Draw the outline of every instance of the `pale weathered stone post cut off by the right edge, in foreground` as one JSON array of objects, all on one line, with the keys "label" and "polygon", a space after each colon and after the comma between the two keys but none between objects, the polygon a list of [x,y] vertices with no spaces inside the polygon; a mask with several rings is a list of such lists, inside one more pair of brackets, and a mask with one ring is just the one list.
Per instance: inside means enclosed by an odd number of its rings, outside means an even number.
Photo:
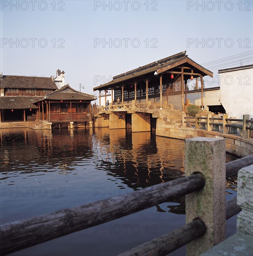
[{"label": "pale weathered stone post cut off by the right edge, in foreground", "polygon": [[238,172],[237,204],[241,212],[237,216],[237,232],[253,236],[253,165]]}]

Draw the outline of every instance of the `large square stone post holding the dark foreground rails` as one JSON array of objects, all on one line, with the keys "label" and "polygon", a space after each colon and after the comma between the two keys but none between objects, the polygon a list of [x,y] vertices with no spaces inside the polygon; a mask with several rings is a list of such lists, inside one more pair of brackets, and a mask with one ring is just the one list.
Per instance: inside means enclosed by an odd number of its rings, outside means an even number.
[{"label": "large square stone post holding the dark foreground rails", "polygon": [[186,195],[186,224],[201,219],[205,235],[186,246],[187,256],[197,256],[225,239],[226,148],[224,139],[197,137],[186,140],[186,176],[201,173],[206,180],[199,192]]}]

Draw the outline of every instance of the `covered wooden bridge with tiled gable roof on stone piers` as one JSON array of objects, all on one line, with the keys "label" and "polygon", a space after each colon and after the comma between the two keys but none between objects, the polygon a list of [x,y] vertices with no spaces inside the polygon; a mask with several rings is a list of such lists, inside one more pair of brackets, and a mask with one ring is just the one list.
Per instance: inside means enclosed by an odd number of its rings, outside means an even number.
[{"label": "covered wooden bridge with tiled gable roof on stone piers", "polygon": [[[200,78],[201,107],[203,108],[203,77],[213,73],[191,60],[186,51],[159,61],[138,67],[113,77],[113,80],[93,88],[105,91],[108,107],[101,106],[95,126],[127,128],[132,131],[148,131],[155,126],[153,118],[159,118],[161,111],[168,111],[172,118],[179,118],[187,106],[187,81]],[[107,98],[111,90],[111,98]],[[108,116],[109,115],[109,116]],[[103,117],[103,119],[99,119]],[[133,125],[133,122],[135,125]]]}]

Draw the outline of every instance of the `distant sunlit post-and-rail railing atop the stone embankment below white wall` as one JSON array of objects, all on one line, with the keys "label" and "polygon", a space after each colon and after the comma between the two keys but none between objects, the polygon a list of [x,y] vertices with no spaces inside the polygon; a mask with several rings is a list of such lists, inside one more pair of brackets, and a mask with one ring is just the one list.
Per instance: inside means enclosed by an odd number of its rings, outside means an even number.
[{"label": "distant sunlit post-and-rail railing atop the stone embankment below white wall", "polygon": [[216,131],[224,134],[239,134],[243,138],[252,137],[253,118],[250,115],[243,115],[243,119],[228,118],[227,114],[213,115],[212,113],[205,116],[196,114],[195,116],[184,115],[183,127],[192,127],[204,129],[207,131]]}]

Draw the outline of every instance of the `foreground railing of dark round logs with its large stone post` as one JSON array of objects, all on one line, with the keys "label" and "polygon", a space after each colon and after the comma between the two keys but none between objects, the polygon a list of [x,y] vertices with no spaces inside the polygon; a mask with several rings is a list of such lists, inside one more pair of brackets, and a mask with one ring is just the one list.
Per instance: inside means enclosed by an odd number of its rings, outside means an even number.
[{"label": "foreground railing of dark round logs with its large stone post", "polygon": [[[195,143],[198,143],[198,147]],[[240,211],[236,198],[226,202],[225,179],[237,175],[238,170],[253,164],[253,155],[227,164],[225,162],[223,139],[188,139],[186,140],[186,177],[134,191],[125,196],[116,196],[1,225],[1,253],[6,255],[187,195],[185,226],[122,255],[146,255],[146,253],[153,256],[166,255],[191,241],[198,241],[193,245],[189,244],[190,250],[196,249],[198,252],[195,255],[198,255],[204,249],[211,248],[217,241],[219,243],[224,239],[226,228],[224,222]],[[220,178],[221,176],[223,179]],[[194,202],[201,202],[201,207],[192,205]],[[206,219],[209,214],[215,216],[210,220]],[[219,222],[216,222],[215,218]],[[207,237],[208,244],[203,244],[202,240],[195,240],[199,236]]]}]

